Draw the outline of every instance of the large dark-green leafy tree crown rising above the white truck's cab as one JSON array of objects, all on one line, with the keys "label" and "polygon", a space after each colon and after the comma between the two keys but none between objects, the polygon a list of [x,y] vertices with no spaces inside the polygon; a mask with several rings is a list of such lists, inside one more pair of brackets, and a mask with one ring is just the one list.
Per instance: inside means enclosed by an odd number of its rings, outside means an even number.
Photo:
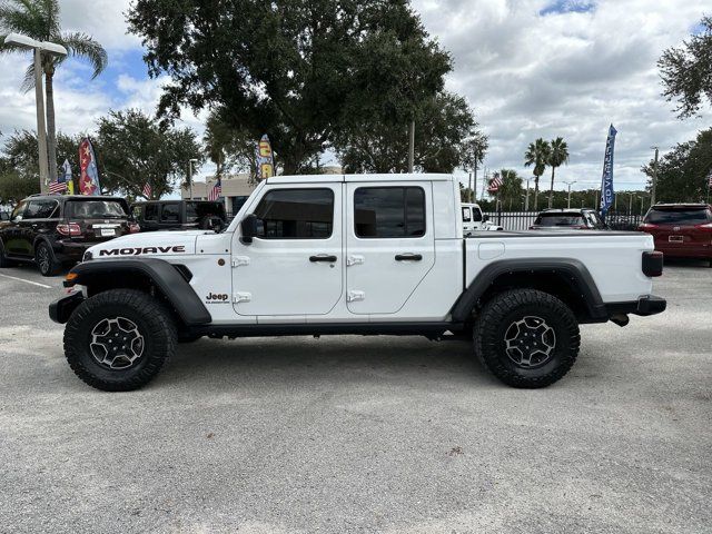
[{"label": "large dark-green leafy tree crown rising above the white truck's cab", "polygon": [[149,73],[172,78],[162,115],[221,107],[235,130],[269,135],[286,174],[368,117],[405,137],[452,65],[406,0],[137,0],[128,21]]}]

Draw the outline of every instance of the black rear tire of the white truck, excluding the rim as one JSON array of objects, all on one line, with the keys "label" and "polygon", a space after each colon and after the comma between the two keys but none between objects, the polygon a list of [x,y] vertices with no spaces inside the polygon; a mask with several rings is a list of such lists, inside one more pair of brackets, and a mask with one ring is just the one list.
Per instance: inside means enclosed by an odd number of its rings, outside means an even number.
[{"label": "black rear tire of the white truck, excluding the rim", "polygon": [[[548,359],[523,367],[507,354],[507,329],[525,317],[545,322],[555,334]],[[478,315],[473,329],[475,354],[483,366],[504,384],[521,388],[546,387],[562,378],[576,362],[581,335],[571,308],[536,289],[512,289],[495,296]],[[541,356],[541,355],[540,355]]]}]

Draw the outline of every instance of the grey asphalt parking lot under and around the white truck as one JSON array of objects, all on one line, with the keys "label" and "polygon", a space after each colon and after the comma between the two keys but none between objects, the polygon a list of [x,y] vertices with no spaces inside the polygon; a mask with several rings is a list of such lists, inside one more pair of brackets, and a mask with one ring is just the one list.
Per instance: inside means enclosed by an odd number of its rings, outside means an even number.
[{"label": "grey asphalt parking lot under and around the white truck", "polygon": [[583,326],[541,390],[464,342],[343,336],[204,339],[102,393],[47,316],[60,281],[0,271],[1,532],[712,531],[705,264],[666,266],[665,314]]}]

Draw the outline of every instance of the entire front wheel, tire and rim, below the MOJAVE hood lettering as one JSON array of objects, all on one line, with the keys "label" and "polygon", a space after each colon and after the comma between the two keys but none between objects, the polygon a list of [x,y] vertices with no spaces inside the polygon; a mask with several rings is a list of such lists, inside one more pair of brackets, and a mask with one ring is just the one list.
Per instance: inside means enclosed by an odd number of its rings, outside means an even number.
[{"label": "entire front wheel, tire and rim, below the MOJAVE hood lettering", "polygon": [[65,355],[97,389],[148,384],[176,349],[176,325],[160,301],[136,289],[110,289],[77,307],[65,328]]}]

